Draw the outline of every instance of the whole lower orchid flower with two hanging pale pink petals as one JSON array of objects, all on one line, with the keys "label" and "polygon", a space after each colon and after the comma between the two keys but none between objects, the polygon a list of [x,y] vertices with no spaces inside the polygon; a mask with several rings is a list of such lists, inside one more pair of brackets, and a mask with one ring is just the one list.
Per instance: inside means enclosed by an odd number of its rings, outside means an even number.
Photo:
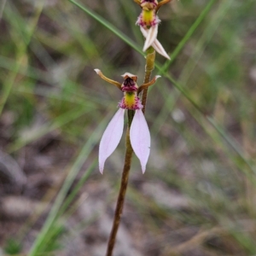
[{"label": "whole lower orchid flower with two hanging pale pink petals", "polygon": [[139,93],[154,84],[160,76],[155,76],[148,84],[137,85],[137,76],[131,73],[122,75],[123,84],[105,77],[99,69],[95,69],[96,73],[105,81],[114,84],[119,90],[124,92],[124,97],[119,102],[119,110],[114,114],[113,119],[109,122],[103,133],[99,148],[99,169],[103,172],[105,161],[108,159],[115,148],[117,148],[124,130],[125,109],[134,110],[134,117],[131,122],[130,140],[131,147],[137,158],[140,160],[143,173],[146,170],[148,156],[150,153],[150,133],[148,125],[143,114],[143,105],[138,97]]}]

